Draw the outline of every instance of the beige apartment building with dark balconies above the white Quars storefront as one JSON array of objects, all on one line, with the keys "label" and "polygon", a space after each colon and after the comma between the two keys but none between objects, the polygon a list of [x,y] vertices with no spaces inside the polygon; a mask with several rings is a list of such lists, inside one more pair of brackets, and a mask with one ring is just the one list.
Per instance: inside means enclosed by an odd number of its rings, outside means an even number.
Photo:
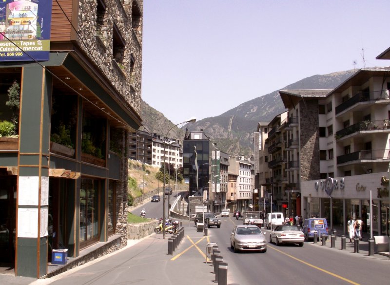
[{"label": "beige apartment building with dark balconies above the white Quars storefront", "polygon": [[279,92],[297,120],[290,137],[299,133],[304,217],[324,216],[346,230],[349,216],[360,216],[363,231],[372,225],[389,234],[389,75],[389,68],[361,69],[330,91]]}]

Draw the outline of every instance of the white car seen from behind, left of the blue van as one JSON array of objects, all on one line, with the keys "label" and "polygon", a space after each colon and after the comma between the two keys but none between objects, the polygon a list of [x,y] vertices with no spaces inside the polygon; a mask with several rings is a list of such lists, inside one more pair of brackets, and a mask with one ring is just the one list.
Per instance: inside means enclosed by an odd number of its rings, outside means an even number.
[{"label": "white car seen from behind, left of the blue van", "polygon": [[305,236],[302,231],[299,230],[297,226],[282,225],[277,226],[270,233],[270,243],[275,242],[278,246],[284,243],[298,244],[300,247],[303,247],[305,241]]}]

